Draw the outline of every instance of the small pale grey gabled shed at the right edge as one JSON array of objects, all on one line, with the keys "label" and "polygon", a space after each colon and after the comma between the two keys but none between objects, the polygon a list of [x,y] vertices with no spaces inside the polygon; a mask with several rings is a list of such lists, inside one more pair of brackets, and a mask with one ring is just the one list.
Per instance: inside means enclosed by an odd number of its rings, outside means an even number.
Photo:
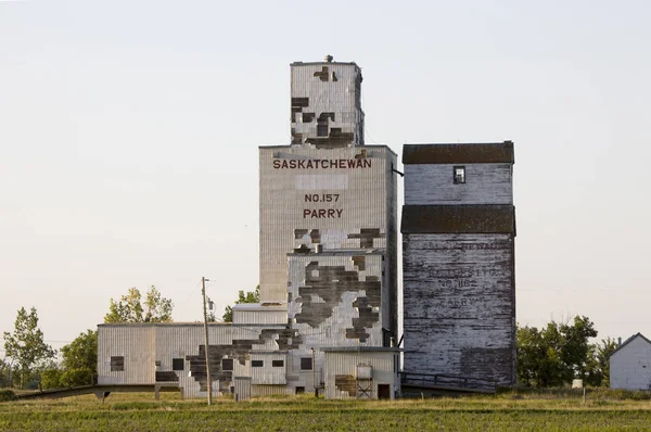
[{"label": "small pale grey gabled shed at the right edge", "polygon": [[636,335],[610,358],[611,389],[649,390],[651,387],[651,343]]}]

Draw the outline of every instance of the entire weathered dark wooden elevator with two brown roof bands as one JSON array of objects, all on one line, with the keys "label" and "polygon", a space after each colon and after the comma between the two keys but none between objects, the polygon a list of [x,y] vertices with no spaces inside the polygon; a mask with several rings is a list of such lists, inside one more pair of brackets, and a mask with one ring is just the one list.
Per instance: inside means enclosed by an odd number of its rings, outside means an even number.
[{"label": "entire weathered dark wooden elevator with two brown roof bands", "polygon": [[515,383],[513,143],[406,144],[405,371]]}]

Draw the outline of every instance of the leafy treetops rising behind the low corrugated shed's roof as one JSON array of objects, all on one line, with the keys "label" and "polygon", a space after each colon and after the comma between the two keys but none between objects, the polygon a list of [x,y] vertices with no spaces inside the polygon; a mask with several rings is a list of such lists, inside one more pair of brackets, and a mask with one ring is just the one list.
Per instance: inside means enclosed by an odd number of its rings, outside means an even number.
[{"label": "leafy treetops rising behind the low corrugated shed's roof", "polygon": [[108,314],[104,316],[104,322],[171,322],[171,300],[165,298],[156,287],[146,292],[144,303],[137,288],[130,288],[127,295],[123,295],[119,302],[111,298]]}]

